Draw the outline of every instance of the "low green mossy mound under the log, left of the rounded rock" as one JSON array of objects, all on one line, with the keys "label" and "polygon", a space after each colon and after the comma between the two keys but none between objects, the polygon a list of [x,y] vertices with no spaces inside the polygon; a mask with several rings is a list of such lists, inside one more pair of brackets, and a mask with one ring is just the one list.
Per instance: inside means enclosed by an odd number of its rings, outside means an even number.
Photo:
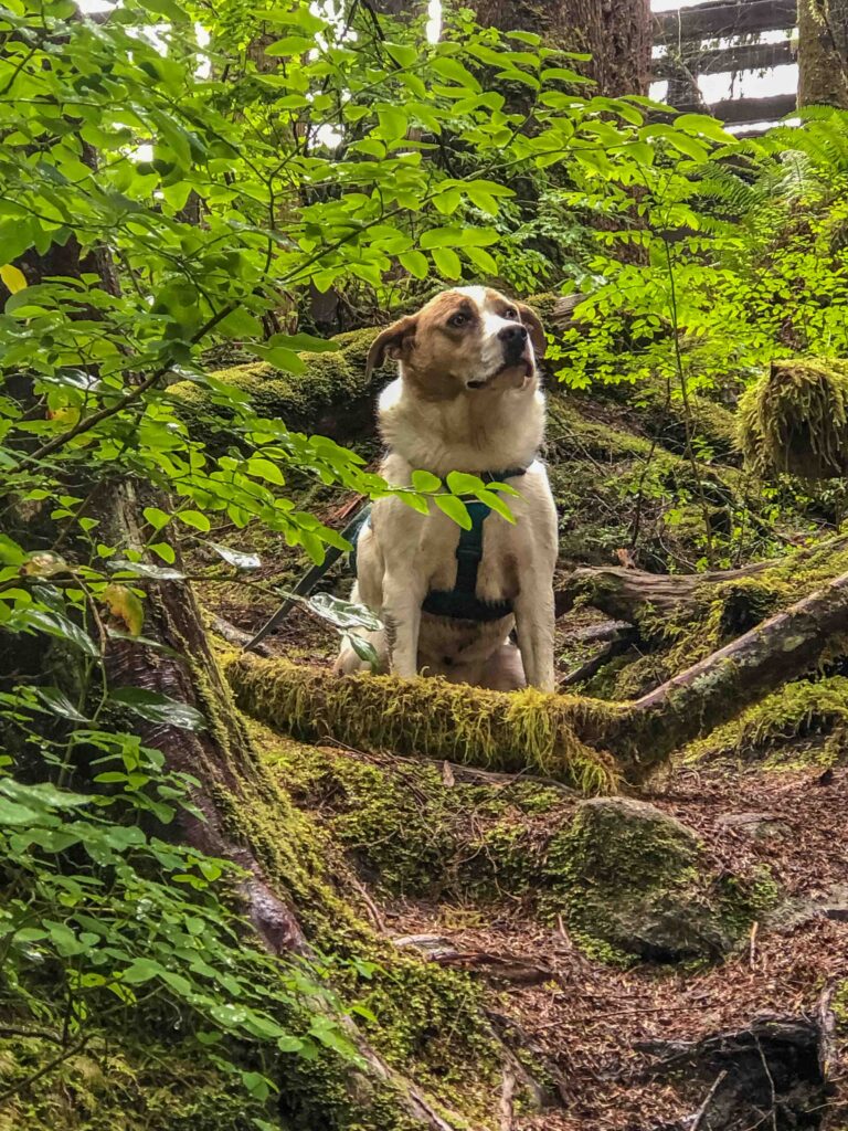
[{"label": "low green mossy mound under the log, left of the rounded rock", "polygon": [[435,762],[274,741],[266,759],[296,804],[320,814],[362,880],[391,896],[520,898],[542,878],[551,828],[574,796],[529,779],[452,780]]}]

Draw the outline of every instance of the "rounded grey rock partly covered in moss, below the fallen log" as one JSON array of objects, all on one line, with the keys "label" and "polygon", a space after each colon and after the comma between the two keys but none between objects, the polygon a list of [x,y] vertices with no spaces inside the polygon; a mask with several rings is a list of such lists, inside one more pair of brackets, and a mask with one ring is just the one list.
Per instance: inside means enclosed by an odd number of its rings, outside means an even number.
[{"label": "rounded grey rock partly covered in moss, below the fallen log", "polygon": [[758,917],[758,900],[773,898],[711,873],[691,829],[626,797],[580,804],[551,841],[547,871],[574,940],[622,964],[724,955]]}]

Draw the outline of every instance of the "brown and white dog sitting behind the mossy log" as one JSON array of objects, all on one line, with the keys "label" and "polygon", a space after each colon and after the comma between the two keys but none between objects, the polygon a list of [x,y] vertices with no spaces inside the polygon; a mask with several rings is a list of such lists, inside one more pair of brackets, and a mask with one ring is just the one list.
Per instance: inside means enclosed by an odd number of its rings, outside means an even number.
[{"label": "brown and white dog sitting behind the mossy log", "polygon": [[[422,515],[397,497],[374,503],[357,545],[352,599],[386,625],[369,636],[384,667],[456,683],[513,690],[554,689],[556,510],[538,459],[545,403],[536,354],[545,334],[523,303],[486,287],[457,287],[379,335],[369,369],[387,356],[399,377],[380,396],[378,418],[388,447],[381,473],[408,486],[423,468],[445,478],[503,472],[519,497],[505,501],[516,519],[496,512],[483,523],[476,597],[494,619],[467,620],[423,610],[427,595],[453,589],[460,528],[431,504]],[[503,610],[503,614],[500,611]],[[518,648],[510,644],[517,630]],[[366,666],[349,647],[340,674]]]}]

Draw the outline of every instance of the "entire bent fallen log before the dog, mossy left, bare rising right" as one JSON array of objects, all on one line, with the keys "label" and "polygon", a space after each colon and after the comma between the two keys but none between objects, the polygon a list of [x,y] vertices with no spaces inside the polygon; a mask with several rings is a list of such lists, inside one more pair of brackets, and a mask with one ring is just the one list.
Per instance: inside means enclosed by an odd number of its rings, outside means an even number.
[{"label": "entire bent fallen log before the dog, mossy left, bare rising right", "polygon": [[311,741],[539,770],[582,794],[642,780],[669,753],[813,668],[848,630],[848,573],[629,702],[484,691],[389,675],[337,679],[285,659],[232,658],[236,702]]}]

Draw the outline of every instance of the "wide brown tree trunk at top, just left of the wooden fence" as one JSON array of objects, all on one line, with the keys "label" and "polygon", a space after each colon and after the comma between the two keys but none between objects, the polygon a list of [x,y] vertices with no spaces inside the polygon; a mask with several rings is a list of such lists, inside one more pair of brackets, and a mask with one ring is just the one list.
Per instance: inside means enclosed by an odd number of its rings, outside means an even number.
[{"label": "wide brown tree trunk at top, just left of the wooden fence", "polygon": [[535,32],[550,46],[591,53],[597,93],[647,94],[654,43],[649,0],[476,0],[484,27]]}]

